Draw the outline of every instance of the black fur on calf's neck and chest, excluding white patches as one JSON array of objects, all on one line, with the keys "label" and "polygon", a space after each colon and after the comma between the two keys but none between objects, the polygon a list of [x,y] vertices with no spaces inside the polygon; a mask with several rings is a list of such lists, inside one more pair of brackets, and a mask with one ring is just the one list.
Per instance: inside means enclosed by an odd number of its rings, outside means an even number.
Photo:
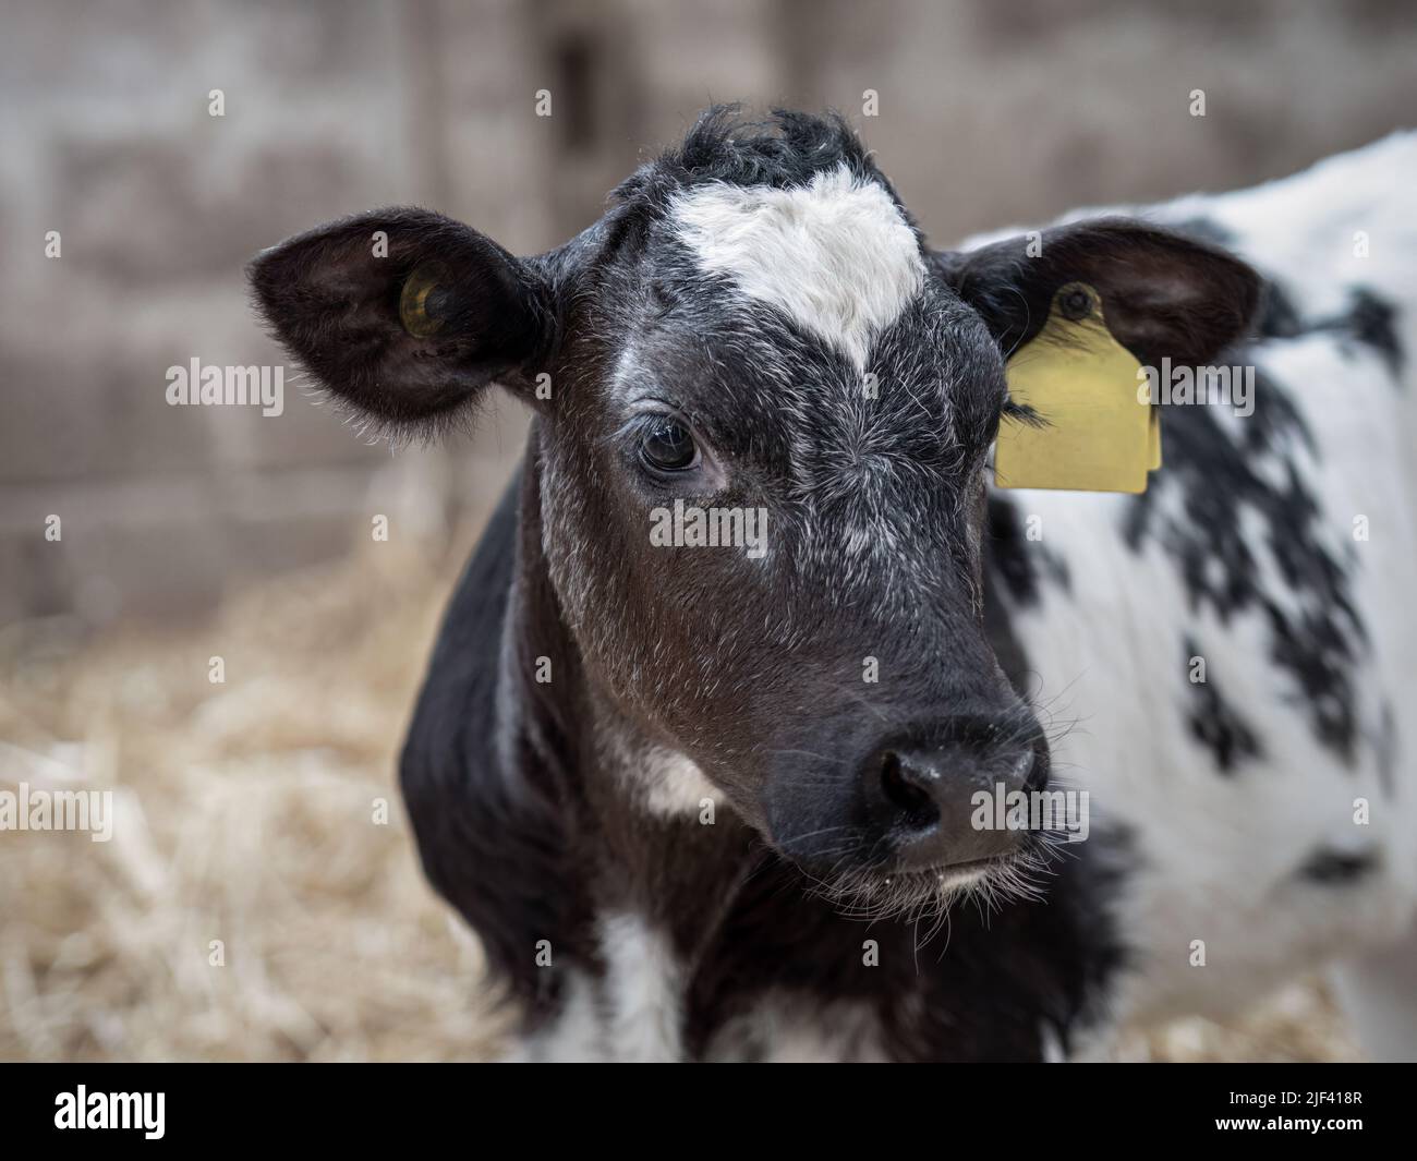
[{"label": "black fur on calf's neck and chest, excluding white patches", "polygon": [[[587,887],[626,875],[646,876],[635,886],[650,892],[646,916],[693,964],[683,1015],[690,1056],[775,994],[809,1006],[860,1002],[903,1060],[1039,1060],[1046,1033],[1067,1049],[1102,1015],[1101,997],[1127,961],[1111,899],[1115,868],[1134,856],[1124,858],[1128,839],[1118,832],[1067,848],[1046,899],[961,906],[934,938],[925,938],[928,920],[845,917],[733,819],[687,831],[633,821],[635,848],[656,856],[643,868],[621,862],[619,828],[632,819],[598,815],[584,792],[594,785],[581,765],[585,746],[558,709],[580,696],[560,682],[555,699],[534,696],[521,662],[509,665],[499,648],[512,617],[512,639],[537,642],[555,665],[574,656],[554,608],[523,598],[538,585],[527,573],[534,537],[516,544],[519,495],[523,527],[537,525],[524,507],[534,507],[533,493],[513,481],[449,605],[404,748],[402,787],[431,880],[478,930],[530,1028],[555,1011],[567,970],[604,971]],[[574,665],[568,679],[578,680],[572,675]],[[497,712],[507,705],[497,686],[507,682],[531,697],[516,726]],[[510,765],[497,758],[500,737],[517,756]],[[686,836],[706,835],[711,853],[684,849]],[[553,950],[550,967],[536,963],[540,940]],[[866,940],[879,944],[876,967],[863,963]],[[751,1038],[738,1046],[750,1058],[769,1048]]]}]

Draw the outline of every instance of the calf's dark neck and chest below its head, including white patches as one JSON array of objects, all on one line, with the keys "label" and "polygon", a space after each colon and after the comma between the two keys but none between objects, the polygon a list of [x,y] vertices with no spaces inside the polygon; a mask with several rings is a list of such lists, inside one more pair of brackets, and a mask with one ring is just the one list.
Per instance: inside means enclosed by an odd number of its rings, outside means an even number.
[{"label": "calf's dark neck and chest below its head, including white patches", "polygon": [[1101,843],[1061,859],[1046,899],[871,923],[693,763],[594,709],[541,560],[540,438],[459,583],[402,758],[429,876],[527,1006],[520,1053],[1041,1059],[1093,1026],[1118,961]]}]

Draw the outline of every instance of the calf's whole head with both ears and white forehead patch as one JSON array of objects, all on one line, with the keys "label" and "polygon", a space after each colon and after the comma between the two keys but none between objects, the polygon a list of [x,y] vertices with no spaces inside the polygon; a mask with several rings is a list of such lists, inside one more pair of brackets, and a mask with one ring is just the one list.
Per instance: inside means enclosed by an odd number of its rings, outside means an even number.
[{"label": "calf's whole head with both ears and white forehead patch", "polygon": [[536,258],[384,210],[252,265],[281,340],[395,435],[492,381],[531,404],[591,705],[798,865],[901,900],[1027,853],[971,826],[975,791],[1049,768],[983,634],[985,461],[1005,356],[1068,282],[1153,363],[1209,359],[1257,295],[1136,221],[932,252],[843,123],[724,111]]}]

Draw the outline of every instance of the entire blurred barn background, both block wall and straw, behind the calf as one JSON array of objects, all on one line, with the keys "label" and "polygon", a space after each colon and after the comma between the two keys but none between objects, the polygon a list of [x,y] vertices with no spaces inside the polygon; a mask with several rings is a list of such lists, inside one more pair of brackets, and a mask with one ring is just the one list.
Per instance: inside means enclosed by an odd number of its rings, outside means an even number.
[{"label": "entire blurred barn background, both block wall and straw, behind the calf", "polygon": [[[169,366],[282,361],[255,251],[410,201],[540,251],[710,101],[843,111],[937,244],[1282,176],[1417,111],[1403,0],[4,0],[0,27],[0,790],[119,809],[109,843],[0,834],[0,1059],[497,1035],[393,763],[526,421],[394,458],[289,383],[278,418],[169,407]],[[1352,1055],[1316,987],[1131,1050]]]}]

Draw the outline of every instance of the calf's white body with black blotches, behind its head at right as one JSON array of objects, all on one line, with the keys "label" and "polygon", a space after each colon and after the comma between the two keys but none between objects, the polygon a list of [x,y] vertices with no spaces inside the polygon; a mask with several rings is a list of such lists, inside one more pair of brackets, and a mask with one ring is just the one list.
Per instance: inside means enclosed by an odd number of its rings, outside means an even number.
[{"label": "calf's white body with black blotches, behind its head at right", "polygon": [[1253,414],[1163,408],[1139,498],[1007,493],[1051,563],[1009,605],[1033,693],[1078,723],[1054,753],[1136,852],[1118,1018],[1223,1015],[1346,958],[1365,1048],[1417,1055],[1417,957],[1382,950],[1417,899],[1414,180],[1403,135],[1146,211],[1265,275],[1219,360],[1255,369]]}]

